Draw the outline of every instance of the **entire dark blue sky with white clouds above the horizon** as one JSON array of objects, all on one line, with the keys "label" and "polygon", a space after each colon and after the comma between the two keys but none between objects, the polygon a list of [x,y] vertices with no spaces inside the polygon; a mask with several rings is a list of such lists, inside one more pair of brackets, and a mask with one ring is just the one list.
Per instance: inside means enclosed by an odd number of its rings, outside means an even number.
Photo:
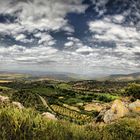
[{"label": "entire dark blue sky with white clouds above the horizon", "polygon": [[0,71],[140,71],[139,0],[0,0]]}]

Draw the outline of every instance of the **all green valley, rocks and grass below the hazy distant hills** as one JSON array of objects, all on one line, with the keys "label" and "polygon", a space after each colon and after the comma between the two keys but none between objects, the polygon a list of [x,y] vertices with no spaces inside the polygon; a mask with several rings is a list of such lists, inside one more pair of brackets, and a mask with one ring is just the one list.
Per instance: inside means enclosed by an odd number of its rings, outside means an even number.
[{"label": "all green valley, rocks and grass below the hazy distant hills", "polygon": [[0,139],[139,140],[139,84],[54,80],[1,83]]}]

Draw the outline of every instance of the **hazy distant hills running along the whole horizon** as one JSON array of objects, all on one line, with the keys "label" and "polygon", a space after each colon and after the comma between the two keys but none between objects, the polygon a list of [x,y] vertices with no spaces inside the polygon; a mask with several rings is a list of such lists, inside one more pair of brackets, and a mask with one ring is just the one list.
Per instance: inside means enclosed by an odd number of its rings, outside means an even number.
[{"label": "hazy distant hills running along the whole horizon", "polygon": [[56,79],[63,81],[77,81],[77,80],[98,80],[98,81],[133,81],[140,80],[140,72],[131,74],[113,74],[100,78],[89,78],[86,75],[74,74],[74,73],[63,73],[63,72],[5,72],[0,71],[0,79],[20,79],[25,78],[29,80],[45,80],[45,79]]}]

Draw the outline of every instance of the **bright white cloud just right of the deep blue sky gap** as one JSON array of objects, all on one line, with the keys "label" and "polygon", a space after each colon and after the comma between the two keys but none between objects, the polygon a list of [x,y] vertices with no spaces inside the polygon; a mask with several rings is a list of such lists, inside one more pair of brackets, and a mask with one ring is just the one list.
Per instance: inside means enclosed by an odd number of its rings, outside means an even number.
[{"label": "bright white cloud just right of the deep blue sky gap", "polygon": [[126,27],[106,20],[91,21],[89,29],[96,33],[93,38],[100,41],[135,43],[140,39],[140,32],[135,27]]}]

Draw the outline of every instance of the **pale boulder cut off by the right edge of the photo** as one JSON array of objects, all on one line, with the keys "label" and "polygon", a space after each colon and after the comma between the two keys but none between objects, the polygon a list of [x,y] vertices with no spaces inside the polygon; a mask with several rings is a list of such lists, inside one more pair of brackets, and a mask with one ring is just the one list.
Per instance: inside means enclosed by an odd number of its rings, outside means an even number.
[{"label": "pale boulder cut off by the right edge of the photo", "polygon": [[140,113],[140,100],[136,100],[135,102],[129,104],[128,108],[132,112]]}]

